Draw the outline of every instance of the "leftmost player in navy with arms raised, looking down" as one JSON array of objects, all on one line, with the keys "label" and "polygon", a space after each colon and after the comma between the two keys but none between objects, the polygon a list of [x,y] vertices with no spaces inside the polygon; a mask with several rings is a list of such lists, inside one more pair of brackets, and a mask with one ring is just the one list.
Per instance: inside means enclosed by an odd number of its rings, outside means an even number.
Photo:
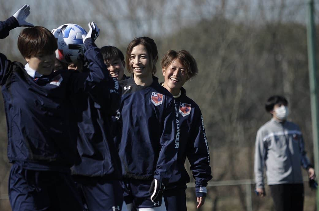
[{"label": "leftmost player in navy with arms raised, looking down", "polygon": [[[29,5],[0,22],[0,39],[26,22]],[[70,167],[79,161],[69,111],[70,97],[91,93],[98,101],[105,93],[109,77],[100,51],[94,44],[94,28],[81,36],[87,74],[54,70],[57,43],[52,33],[41,26],[25,28],[19,34],[18,48],[27,64],[11,62],[0,53],[0,85],[8,128],[9,200],[13,211],[83,210],[81,198],[71,178]]]}]

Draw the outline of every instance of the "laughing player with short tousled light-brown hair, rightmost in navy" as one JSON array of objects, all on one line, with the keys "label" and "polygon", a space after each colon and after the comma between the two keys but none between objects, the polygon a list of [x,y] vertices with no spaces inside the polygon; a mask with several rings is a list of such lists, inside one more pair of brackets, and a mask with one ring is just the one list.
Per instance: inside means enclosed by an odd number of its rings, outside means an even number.
[{"label": "laughing player with short tousled light-brown hair, rightmost in navy", "polygon": [[167,211],[186,211],[186,183],[189,175],[185,169],[186,157],[195,179],[197,208],[205,202],[207,182],[212,178],[209,165],[209,148],[204,127],[204,119],[198,105],[186,95],[182,87],[186,81],[194,77],[197,63],[186,50],[169,50],[161,60],[164,83],[175,99],[179,120],[179,152],[177,164],[172,177],[164,190]]}]

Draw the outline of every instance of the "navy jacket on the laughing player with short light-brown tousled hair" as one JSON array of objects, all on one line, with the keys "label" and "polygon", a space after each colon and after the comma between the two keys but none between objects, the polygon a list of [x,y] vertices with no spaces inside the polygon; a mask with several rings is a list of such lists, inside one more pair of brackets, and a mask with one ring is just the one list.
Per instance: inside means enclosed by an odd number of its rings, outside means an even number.
[{"label": "navy jacket on the laughing player with short light-brown tousled hair", "polygon": [[[212,178],[209,165],[209,148],[204,128],[202,112],[198,105],[186,96],[186,90],[181,88],[181,96],[175,98],[180,124],[180,144],[177,164],[166,189],[182,188],[189,182],[185,169],[186,157],[195,179],[197,197],[205,196],[207,182]],[[204,189],[204,190],[203,190]]]}]

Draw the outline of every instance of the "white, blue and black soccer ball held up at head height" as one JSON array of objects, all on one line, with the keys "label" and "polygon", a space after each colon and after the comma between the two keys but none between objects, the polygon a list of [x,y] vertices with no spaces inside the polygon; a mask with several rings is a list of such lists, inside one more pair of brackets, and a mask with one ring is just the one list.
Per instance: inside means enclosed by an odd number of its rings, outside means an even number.
[{"label": "white, blue and black soccer ball held up at head height", "polygon": [[75,63],[83,57],[85,46],[82,35],[87,33],[81,26],[63,24],[57,29],[53,29],[51,33],[57,40],[56,58],[58,60],[64,63]]}]

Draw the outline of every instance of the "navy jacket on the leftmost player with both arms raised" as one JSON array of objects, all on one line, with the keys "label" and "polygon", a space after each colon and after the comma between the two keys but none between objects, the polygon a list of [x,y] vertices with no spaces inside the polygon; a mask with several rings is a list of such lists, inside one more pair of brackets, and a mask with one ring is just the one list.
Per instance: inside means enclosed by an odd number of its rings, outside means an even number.
[{"label": "navy jacket on the leftmost player with both arms raised", "polygon": [[[11,17],[0,22],[0,38],[18,27]],[[34,80],[19,62],[11,62],[0,53],[0,85],[8,128],[8,158],[26,169],[70,171],[79,162],[76,128],[72,125],[70,96],[92,94],[103,103],[109,93],[100,91],[108,82],[108,72],[100,50],[91,39],[85,40],[88,73],[58,70]],[[105,95],[104,95],[105,94]]]}]

